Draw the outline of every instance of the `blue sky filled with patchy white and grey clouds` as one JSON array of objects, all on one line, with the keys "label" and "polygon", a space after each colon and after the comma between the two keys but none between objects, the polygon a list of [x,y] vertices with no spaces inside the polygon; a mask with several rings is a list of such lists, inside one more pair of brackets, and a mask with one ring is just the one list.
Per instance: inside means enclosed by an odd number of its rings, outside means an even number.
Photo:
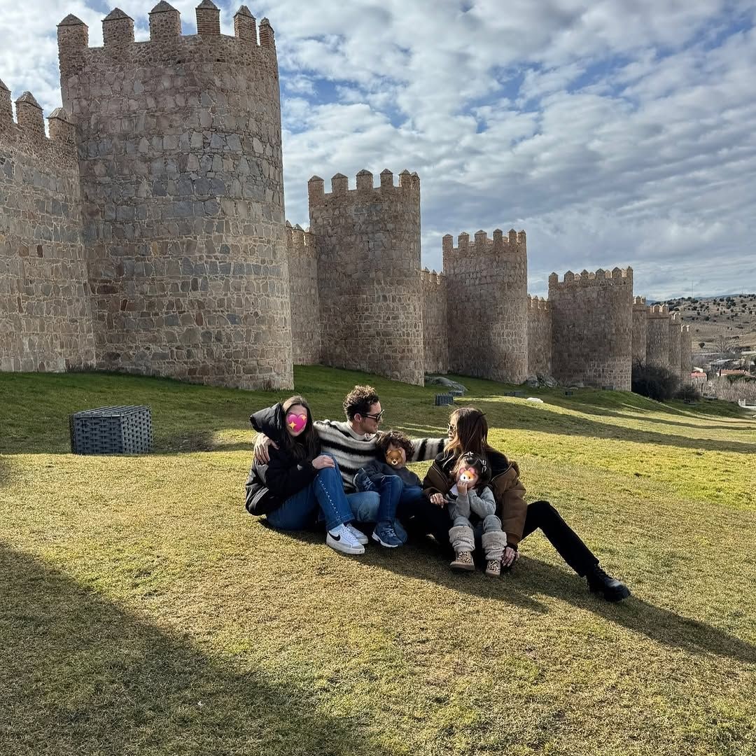
[{"label": "blue sky filled with patchy white and grey clouds", "polygon": [[[119,0],[121,2],[121,0]],[[122,0],[147,38],[156,0]],[[173,2],[184,33],[199,0]],[[216,0],[218,2],[218,0]],[[232,33],[236,4],[218,2]],[[101,44],[112,5],[0,0],[0,78],[60,105],[55,24]],[[441,237],[528,234],[551,271],[631,265],[652,299],[756,291],[756,0],[276,0],[287,217],[306,182],[421,180],[423,265]],[[377,178],[377,176],[376,176]],[[328,181],[327,181],[328,187]]]}]

